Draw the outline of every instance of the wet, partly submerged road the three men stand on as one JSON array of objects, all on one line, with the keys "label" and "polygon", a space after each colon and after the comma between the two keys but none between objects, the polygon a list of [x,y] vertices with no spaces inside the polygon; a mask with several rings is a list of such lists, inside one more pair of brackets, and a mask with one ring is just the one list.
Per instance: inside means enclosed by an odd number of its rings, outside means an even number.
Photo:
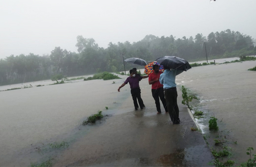
[{"label": "wet, partly submerged road the three men stand on", "polygon": [[191,131],[196,125],[187,107],[181,104],[180,90],[181,124],[172,125],[168,113],[157,114],[147,80],[140,85],[145,109],[134,111],[126,85],[117,98],[129,98],[115,109],[115,114],[101,125],[92,126],[86,136],[64,151],[54,166],[209,166],[213,156],[201,133]]}]

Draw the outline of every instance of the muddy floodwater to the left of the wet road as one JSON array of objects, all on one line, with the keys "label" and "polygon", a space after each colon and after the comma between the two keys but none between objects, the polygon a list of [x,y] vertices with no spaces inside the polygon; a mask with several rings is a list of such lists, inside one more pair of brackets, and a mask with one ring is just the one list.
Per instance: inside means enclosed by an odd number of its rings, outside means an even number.
[{"label": "muddy floodwater to the left of the wet road", "polygon": [[[113,81],[116,84],[112,84]],[[34,151],[40,144],[65,140],[64,135],[91,114],[106,111],[106,106],[117,108],[124,100],[116,98],[117,88],[123,82],[124,79],[93,80],[46,85],[53,82],[42,81],[23,84],[32,84],[32,88],[1,91],[0,166],[28,166],[36,158],[24,155],[27,152]],[[38,84],[45,86],[34,87]],[[0,86],[0,90],[17,85]]]}]

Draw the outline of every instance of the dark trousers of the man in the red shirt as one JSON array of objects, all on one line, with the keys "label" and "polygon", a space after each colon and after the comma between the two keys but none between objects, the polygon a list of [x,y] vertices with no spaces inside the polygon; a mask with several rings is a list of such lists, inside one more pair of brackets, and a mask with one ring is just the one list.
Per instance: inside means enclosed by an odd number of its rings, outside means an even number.
[{"label": "dark trousers of the man in the red shirt", "polygon": [[[152,96],[155,99],[157,111],[161,112],[161,108],[160,108],[160,100],[161,100],[162,101],[162,105],[163,105],[163,107],[165,109],[165,112],[168,112],[166,101],[165,101],[165,98],[164,98],[163,88],[160,87],[158,89],[151,89],[151,91],[152,91]],[[159,100],[159,98],[160,98],[160,100]]]}]

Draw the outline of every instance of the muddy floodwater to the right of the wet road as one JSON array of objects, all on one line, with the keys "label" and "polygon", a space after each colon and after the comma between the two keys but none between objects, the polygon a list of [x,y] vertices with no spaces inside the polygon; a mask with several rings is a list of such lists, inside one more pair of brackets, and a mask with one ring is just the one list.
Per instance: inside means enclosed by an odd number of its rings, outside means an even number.
[{"label": "muddy floodwater to the right of the wet road", "polygon": [[[225,59],[230,60],[233,59]],[[219,139],[232,148],[232,159],[238,164],[249,159],[248,147],[256,148],[256,72],[248,71],[255,66],[256,61],[207,65],[194,67],[177,77],[179,85],[199,96],[205,114],[218,118],[220,133],[224,133]],[[203,133],[211,134],[208,124],[205,125]]]}]

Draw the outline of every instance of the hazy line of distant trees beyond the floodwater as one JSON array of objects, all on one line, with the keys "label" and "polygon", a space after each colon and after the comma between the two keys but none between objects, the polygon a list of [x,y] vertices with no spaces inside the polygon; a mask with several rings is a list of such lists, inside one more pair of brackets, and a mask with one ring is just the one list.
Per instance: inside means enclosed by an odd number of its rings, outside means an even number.
[{"label": "hazy line of distant trees beyond the floodwater", "polygon": [[[211,32],[207,37],[198,33],[193,38],[175,39],[173,35],[146,35],[133,42],[110,42],[100,48],[93,38],[77,36],[77,51],[55,47],[50,55],[19,55],[0,59],[0,85],[50,79],[53,75],[66,77],[94,74],[103,71],[124,71],[123,56],[153,61],[161,56],[178,56],[188,61],[256,55],[253,38],[239,31],[226,29]],[[126,70],[131,68],[126,63]]]}]

